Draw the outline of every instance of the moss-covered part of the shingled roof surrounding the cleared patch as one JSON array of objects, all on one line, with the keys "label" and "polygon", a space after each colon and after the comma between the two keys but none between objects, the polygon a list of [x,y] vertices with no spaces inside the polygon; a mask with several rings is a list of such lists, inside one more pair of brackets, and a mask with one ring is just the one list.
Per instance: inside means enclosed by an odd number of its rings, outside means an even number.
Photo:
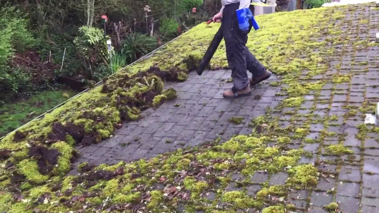
[{"label": "moss-covered part of the shingled roof surrounding the cleared patch", "polygon": [[[81,164],[81,174],[66,176],[77,157],[75,145],[108,138],[123,121],[139,119],[141,110],[175,98],[173,89],[163,89],[163,80],[184,81],[218,29],[218,24],[197,25],[151,58],[2,139],[0,209],[284,213],[311,207],[309,197],[303,197],[305,206],[292,205],[290,194],[312,192],[323,178],[338,178],[343,165],[362,165],[366,139],[379,134],[378,127],[363,124],[364,113],[374,111],[370,100],[378,98],[366,90],[375,91],[377,84],[354,81],[377,75],[378,45],[371,35],[379,11],[372,5],[256,17],[261,29],[251,33],[247,46],[280,76],[271,86],[280,88],[276,96],[282,102],[252,121],[251,135],[149,160]],[[211,68],[227,67],[224,49],[222,42]],[[353,91],[362,96],[354,97]],[[281,125],[283,120],[290,124]],[[333,127],[345,124],[356,130],[355,144],[347,143],[349,133],[334,132]],[[304,149],[308,144],[319,146],[309,152]],[[323,164],[337,169],[328,171]],[[268,177],[278,173],[287,174],[285,183],[270,185]],[[259,190],[252,193],[251,187]]]}]

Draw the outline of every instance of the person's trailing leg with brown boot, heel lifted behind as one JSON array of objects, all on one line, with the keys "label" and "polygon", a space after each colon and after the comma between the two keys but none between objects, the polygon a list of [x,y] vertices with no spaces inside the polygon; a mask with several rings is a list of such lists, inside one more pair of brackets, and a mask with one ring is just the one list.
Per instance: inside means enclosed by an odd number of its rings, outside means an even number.
[{"label": "person's trailing leg with brown boot, heel lifted behind", "polygon": [[266,70],[266,67],[259,63],[259,61],[254,57],[254,55],[249,51],[247,47],[245,49],[245,55],[246,68],[253,75],[253,77],[249,80],[252,86],[256,85],[257,83],[263,80],[268,79],[271,76],[271,72]]}]

